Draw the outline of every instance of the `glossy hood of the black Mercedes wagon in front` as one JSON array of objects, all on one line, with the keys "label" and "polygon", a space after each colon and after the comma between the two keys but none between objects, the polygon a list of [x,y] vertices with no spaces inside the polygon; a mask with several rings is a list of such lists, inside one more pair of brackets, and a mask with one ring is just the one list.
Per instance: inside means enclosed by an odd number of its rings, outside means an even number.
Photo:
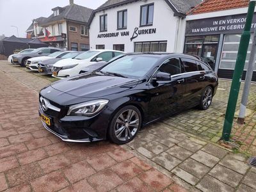
[{"label": "glossy hood of the black Mercedes wagon in front", "polygon": [[134,88],[138,79],[129,79],[116,76],[102,76],[96,73],[70,77],[52,83],[55,90],[65,92],[76,97],[99,98]]}]

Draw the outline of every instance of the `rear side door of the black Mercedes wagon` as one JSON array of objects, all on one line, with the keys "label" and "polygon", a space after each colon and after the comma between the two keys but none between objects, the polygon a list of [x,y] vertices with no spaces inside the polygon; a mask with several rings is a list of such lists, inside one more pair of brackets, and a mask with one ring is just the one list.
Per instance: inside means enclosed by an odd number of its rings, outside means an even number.
[{"label": "rear side door of the black Mercedes wagon", "polygon": [[202,89],[205,84],[204,71],[198,70],[196,60],[190,58],[181,58],[184,65],[184,78],[186,79],[186,96],[184,98],[184,106],[192,108],[199,104]]}]

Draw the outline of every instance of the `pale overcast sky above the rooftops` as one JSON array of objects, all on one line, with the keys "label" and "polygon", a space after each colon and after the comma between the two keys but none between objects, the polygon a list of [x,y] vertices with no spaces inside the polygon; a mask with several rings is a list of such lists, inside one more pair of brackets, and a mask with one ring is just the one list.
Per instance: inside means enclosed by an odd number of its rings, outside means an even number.
[{"label": "pale overcast sky above the rooftops", "polygon": [[[106,0],[74,0],[74,3],[95,9]],[[26,29],[33,19],[49,17],[52,8],[66,6],[69,0],[0,0],[0,35],[17,36],[17,30],[11,26],[17,26],[19,36],[26,37]]]}]

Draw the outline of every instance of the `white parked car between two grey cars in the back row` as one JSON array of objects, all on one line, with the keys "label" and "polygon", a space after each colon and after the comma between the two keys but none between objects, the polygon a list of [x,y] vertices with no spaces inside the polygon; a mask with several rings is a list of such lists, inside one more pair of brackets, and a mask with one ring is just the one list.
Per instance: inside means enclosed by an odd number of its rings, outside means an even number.
[{"label": "white parked car between two grey cars in the back row", "polygon": [[53,52],[52,54],[49,54],[49,56],[40,56],[40,57],[30,58],[26,61],[25,65],[30,70],[38,71],[39,62],[50,60],[52,58],[60,58],[61,56],[64,56],[69,52],[72,52],[72,51],[57,51],[57,52]]}]

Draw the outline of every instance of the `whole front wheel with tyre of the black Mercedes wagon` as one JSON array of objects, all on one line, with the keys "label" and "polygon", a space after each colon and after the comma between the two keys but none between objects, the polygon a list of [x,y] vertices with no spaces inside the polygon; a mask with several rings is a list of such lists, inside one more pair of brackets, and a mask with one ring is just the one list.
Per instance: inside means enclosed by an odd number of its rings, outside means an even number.
[{"label": "whole front wheel with tyre of the black Mercedes wagon", "polygon": [[111,120],[108,129],[109,139],[118,145],[129,143],[140,130],[141,123],[140,110],[134,106],[125,106],[117,111]]}]

